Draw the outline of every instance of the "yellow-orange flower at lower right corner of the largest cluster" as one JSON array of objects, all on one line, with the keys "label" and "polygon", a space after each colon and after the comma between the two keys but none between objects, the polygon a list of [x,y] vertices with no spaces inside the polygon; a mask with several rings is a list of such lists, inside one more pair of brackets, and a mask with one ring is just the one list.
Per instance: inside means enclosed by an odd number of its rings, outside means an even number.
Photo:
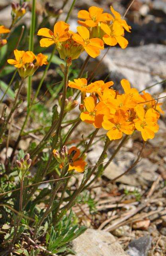
[{"label": "yellow-orange flower at lower right corner of the largest cluster", "polygon": [[158,132],[159,126],[156,123],[154,109],[149,108],[146,113],[143,106],[138,105],[136,108],[138,118],[134,119],[135,128],[141,132],[143,139],[153,139],[154,134]]}]

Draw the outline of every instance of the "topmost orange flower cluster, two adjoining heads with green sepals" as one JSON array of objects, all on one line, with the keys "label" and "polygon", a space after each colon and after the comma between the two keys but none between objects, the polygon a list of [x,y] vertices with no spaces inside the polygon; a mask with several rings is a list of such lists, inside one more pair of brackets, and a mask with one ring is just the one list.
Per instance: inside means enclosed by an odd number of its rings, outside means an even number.
[{"label": "topmost orange flower cluster, two adjoining heads with green sepals", "polygon": [[54,31],[41,28],[38,36],[44,36],[40,40],[41,47],[56,45],[60,58],[71,60],[77,59],[81,52],[86,51],[89,56],[96,58],[104,44],[115,46],[117,43],[121,48],[126,48],[128,41],[123,37],[124,29],[130,32],[131,27],[121,19],[121,15],[111,6],[111,12],[103,13],[102,8],[91,6],[89,12],[80,10],[78,12],[77,33],[69,30],[69,24],[59,21],[54,26]]}]

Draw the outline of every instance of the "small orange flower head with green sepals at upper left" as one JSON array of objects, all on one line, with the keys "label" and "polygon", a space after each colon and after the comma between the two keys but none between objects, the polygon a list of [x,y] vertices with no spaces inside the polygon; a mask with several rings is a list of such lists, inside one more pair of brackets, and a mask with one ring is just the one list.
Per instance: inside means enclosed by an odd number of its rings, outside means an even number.
[{"label": "small orange flower head with green sepals at upper left", "polygon": [[[32,76],[34,72],[39,68],[39,66],[43,66],[44,64],[48,64],[47,56],[39,53],[37,56],[31,51],[19,51],[14,50],[14,59],[8,59],[8,63],[14,65],[18,68],[18,73],[22,78],[27,76]],[[33,61],[35,60],[35,63]]]}]

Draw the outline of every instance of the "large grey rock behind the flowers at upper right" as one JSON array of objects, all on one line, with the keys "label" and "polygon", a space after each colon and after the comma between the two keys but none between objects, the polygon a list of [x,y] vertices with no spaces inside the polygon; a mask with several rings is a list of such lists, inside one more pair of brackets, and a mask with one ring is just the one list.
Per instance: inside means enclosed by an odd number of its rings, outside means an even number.
[{"label": "large grey rock behind the flowers at upper right", "polygon": [[[98,59],[102,58],[106,50],[101,52]],[[143,90],[166,78],[165,55],[166,47],[160,44],[128,47],[125,50],[111,47],[96,72],[96,79],[105,78],[110,74],[109,79],[114,81],[115,87],[120,84],[122,78],[126,78],[132,86]],[[96,66],[96,61],[91,63],[92,70]],[[162,85],[158,84],[148,91],[154,94],[161,92],[161,88]]]}]

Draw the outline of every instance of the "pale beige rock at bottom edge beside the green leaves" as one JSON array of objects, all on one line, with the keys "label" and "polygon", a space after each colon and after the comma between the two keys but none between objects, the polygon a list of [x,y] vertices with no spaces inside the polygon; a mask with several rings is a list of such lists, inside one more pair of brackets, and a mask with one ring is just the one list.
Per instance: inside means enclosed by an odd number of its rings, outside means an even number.
[{"label": "pale beige rock at bottom edge beside the green leaves", "polygon": [[72,243],[76,256],[127,256],[114,236],[102,230],[88,228]]}]

